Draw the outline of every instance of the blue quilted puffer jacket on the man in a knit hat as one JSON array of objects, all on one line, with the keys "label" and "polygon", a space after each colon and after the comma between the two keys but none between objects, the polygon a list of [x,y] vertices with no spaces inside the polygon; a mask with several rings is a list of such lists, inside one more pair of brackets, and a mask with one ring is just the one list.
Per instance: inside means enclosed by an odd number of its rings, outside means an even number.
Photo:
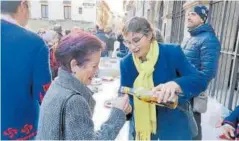
[{"label": "blue quilted puffer jacket on the man in a knit hat", "polygon": [[204,73],[210,81],[217,72],[220,42],[209,24],[189,30],[189,33],[191,37],[182,43],[184,53],[189,62]]}]

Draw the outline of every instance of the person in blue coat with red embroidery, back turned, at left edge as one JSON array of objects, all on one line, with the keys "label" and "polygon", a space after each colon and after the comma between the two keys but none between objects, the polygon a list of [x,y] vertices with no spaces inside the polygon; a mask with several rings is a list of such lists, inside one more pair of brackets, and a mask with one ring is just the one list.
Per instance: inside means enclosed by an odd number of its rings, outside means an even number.
[{"label": "person in blue coat with red embroidery, back turned, at left edge", "polygon": [[51,82],[49,49],[24,28],[26,0],[1,1],[1,140],[33,140],[39,107]]}]

